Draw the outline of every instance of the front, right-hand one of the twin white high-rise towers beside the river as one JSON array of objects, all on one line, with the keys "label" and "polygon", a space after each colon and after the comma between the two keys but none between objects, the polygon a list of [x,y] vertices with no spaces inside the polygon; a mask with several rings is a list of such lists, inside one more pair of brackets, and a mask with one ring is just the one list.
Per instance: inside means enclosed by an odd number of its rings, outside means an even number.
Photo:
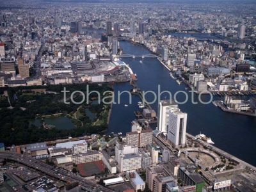
[{"label": "front, right-hand one of the twin white high-rise towers beside the river", "polygon": [[180,109],[170,110],[168,140],[173,147],[184,147],[186,143],[187,113],[182,113]]}]

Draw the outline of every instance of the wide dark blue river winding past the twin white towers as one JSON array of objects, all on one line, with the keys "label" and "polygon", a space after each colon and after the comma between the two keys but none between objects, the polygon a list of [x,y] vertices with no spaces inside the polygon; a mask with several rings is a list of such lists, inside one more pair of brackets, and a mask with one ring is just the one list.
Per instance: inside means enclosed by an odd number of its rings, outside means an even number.
[{"label": "wide dark blue river winding past the twin white towers", "polygon": [[[141,46],[134,45],[130,42],[120,42],[120,47],[124,54],[143,55],[149,51]],[[138,76],[138,87],[141,90],[152,90],[157,93],[158,85],[161,86],[161,92],[168,90],[174,95],[175,92],[184,91],[189,95],[189,101],[186,104],[180,104],[179,108],[188,113],[187,131],[189,134],[204,133],[212,138],[216,147],[227,151],[228,153],[243,159],[244,161],[256,166],[256,118],[251,116],[236,115],[221,111],[213,104],[193,104],[191,102],[191,93],[186,90],[184,84],[177,84],[173,80],[168,70],[161,65],[156,58],[123,58],[123,61],[132,68]],[[118,91],[129,91],[129,83],[115,84],[115,95]],[[185,98],[183,93],[177,95],[177,99],[182,102]],[[195,101],[198,100],[196,95]],[[161,99],[169,98],[168,94],[161,95]],[[148,94],[148,100],[152,95]],[[207,101],[209,95],[204,95],[202,100]],[[215,97],[214,99],[220,99]],[[113,104],[108,132],[125,132],[131,131],[131,121],[135,119],[134,111],[138,111],[138,96],[132,96],[132,104],[129,103],[127,94],[121,97],[121,104]],[[124,104],[128,104],[127,107]],[[157,112],[157,102],[152,104],[152,108]]]}]

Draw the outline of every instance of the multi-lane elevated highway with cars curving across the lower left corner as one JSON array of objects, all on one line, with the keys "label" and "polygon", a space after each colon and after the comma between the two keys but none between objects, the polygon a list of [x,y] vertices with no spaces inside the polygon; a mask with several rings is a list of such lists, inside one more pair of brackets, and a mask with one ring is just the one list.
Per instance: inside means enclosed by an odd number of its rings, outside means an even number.
[{"label": "multi-lane elevated highway with cars curving across the lower left corner", "polygon": [[73,173],[70,173],[66,170],[62,170],[60,168],[54,168],[53,166],[50,166],[49,164],[45,164],[42,161],[36,160],[33,157],[29,157],[22,154],[10,153],[10,152],[0,152],[0,158],[12,160],[17,163],[24,164],[30,168],[33,168],[42,173],[45,173],[50,177],[54,177],[55,179],[58,179],[58,180],[63,180],[64,182],[78,181],[81,187],[86,191],[92,191],[92,192],[112,191],[111,189],[104,188],[103,186],[100,186],[99,184],[95,184],[90,180],[86,180],[79,175],[74,175]]}]

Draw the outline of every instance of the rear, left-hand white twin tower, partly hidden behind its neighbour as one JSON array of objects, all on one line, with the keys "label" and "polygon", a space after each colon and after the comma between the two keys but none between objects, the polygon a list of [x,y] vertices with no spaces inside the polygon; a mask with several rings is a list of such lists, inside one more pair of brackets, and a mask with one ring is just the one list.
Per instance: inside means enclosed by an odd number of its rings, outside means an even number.
[{"label": "rear, left-hand white twin tower, partly hidden behind its neighbour", "polygon": [[161,100],[158,104],[157,129],[160,132],[168,132],[169,111],[178,109],[178,104],[170,100]]}]

